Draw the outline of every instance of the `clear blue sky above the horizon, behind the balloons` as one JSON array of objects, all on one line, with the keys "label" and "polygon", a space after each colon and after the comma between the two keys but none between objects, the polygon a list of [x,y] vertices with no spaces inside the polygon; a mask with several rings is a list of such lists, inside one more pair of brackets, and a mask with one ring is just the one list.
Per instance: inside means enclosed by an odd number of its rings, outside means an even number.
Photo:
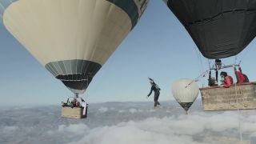
[{"label": "clear blue sky above the horizon, behind the balloons", "polygon": [[[256,79],[255,40],[238,54],[250,81]],[[235,58],[222,62],[234,63]],[[0,26],[0,105],[58,104],[73,94],[39,64]],[[162,1],[150,1],[138,25],[130,32],[90,83],[83,98],[90,102],[152,101],[148,77],[161,87],[160,102],[174,99],[171,84],[178,78],[196,78],[208,68],[178,19]],[[226,70],[231,76],[231,70]],[[206,78],[205,78],[206,80]],[[203,79],[199,86],[206,84]]]}]

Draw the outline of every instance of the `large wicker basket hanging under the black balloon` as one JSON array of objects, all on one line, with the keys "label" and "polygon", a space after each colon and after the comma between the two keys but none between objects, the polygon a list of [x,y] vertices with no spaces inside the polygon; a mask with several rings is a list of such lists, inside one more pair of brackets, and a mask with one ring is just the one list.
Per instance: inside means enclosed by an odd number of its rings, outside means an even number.
[{"label": "large wicker basket hanging under the black balloon", "polygon": [[204,110],[256,109],[256,83],[201,88]]}]

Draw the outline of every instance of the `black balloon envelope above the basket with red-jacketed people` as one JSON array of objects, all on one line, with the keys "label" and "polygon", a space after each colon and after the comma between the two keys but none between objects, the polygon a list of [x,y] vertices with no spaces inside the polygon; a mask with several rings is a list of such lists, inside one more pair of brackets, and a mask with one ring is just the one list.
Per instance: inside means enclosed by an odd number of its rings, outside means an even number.
[{"label": "black balloon envelope above the basket with red-jacketed people", "polygon": [[240,53],[256,35],[256,0],[169,0],[202,55],[226,58]]}]

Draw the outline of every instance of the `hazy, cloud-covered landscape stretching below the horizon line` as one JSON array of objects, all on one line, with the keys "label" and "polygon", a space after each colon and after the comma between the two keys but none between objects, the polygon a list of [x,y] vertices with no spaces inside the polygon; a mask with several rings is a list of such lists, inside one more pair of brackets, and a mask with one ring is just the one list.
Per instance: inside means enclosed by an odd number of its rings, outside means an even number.
[{"label": "hazy, cloud-covered landscape stretching below the horizon line", "polygon": [[0,143],[256,144],[256,110],[205,112],[201,103],[188,115],[173,101],[90,104],[86,119],[61,118],[60,106],[2,107]]}]

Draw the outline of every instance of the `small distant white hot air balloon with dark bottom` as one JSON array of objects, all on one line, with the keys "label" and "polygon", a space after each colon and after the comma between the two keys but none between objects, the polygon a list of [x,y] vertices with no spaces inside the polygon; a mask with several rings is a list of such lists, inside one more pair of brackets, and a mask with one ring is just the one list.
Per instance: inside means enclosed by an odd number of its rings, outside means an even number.
[{"label": "small distant white hot air balloon with dark bottom", "polygon": [[198,97],[199,87],[196,82],[191,79],[179,79],[174,82],[171,88],[172,94],[176,101],[187,111]]}]

